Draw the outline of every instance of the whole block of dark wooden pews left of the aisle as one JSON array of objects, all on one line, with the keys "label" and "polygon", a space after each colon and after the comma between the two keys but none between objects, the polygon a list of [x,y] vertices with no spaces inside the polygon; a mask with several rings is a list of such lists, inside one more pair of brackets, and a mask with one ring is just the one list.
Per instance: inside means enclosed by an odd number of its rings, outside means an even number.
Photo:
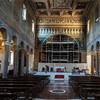
[{"label": "whole block of dark wooden pews left of the aisle", "polygon": [[0,78],[0,100],[17,100],[20,97],[32,100],[49,82],[49,76],[43,75]]}]

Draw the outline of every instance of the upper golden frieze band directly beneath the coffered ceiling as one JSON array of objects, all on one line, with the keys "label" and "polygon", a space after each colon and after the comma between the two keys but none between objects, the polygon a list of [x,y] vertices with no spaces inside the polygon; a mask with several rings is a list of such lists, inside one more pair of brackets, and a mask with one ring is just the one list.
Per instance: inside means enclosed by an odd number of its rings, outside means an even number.
[{"label": "upper golden frieze band directly beneath the coffered ceiling", "polygon": [[82,18],[72,17],[72,18],[66,18],[66,17],[52,17],[52,18],[38,18],[37,19],[38,25],[86,25],[85,20],[82,20]]}]

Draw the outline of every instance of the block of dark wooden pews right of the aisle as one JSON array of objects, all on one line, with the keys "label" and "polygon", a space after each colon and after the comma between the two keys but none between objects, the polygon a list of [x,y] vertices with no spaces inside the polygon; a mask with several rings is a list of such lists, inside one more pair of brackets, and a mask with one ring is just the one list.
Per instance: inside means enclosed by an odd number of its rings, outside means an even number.
[{"label": "block of dark wooden pews right of the aisle", "polygon": [[[71,76],[69,80],[75,91],[81,98],[87,100],[88,97],[96,97],[96,93],[100,94],[100,77]],[[99,98],[99,96],[98,96]]]}]

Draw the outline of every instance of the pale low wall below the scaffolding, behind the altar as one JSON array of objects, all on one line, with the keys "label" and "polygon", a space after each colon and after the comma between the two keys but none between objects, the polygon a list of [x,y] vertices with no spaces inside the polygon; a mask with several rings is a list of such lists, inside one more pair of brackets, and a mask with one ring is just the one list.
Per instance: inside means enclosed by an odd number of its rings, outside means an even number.
[{"label": "pale low wall below the scaffolding, behind the altar", "polygon": [[[46,66],[48,66],[49,72],[67,72],[71,73],[74,67],[82,69],[88,69],[87,63],[39,63],[38,72],[45,71]],[[51,70],[52,69],[52,70]],[[47,71],[48,71],[47,70]],[[90,73],[90,71],[89,71]]]}]

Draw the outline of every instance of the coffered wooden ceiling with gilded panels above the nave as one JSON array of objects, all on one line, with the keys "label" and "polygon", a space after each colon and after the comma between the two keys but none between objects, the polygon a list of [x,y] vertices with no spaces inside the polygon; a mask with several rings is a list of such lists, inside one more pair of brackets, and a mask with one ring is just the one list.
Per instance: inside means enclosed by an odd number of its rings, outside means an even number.
[{"label": "coffered wooden ceiling with gilded panels above the nave", "polygon": [[[84,16],[94,0],[29,0],[36,15]],[[31,4],[31,5],[32,5]]]}]

